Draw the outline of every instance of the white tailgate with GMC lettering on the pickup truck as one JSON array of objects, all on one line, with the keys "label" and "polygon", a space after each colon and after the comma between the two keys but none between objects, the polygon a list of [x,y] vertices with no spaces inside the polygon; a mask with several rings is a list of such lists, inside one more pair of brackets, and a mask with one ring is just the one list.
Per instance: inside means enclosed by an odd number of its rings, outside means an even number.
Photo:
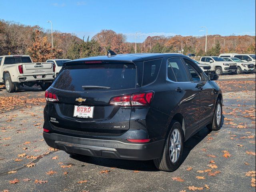
[{"label": "white tailgate with GMC lettering on the pickup truck", "polygon": [[22,63],[23,73],[40,73],[53,72],[52,63]]}]

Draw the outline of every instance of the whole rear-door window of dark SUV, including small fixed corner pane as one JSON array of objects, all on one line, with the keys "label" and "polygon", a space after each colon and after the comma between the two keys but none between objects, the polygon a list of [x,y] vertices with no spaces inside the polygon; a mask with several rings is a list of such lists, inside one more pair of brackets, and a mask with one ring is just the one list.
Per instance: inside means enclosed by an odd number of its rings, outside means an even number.
[{"label": "whole rear-door window of dark SUV, including small fixed corner pane", "polygon": [[175,82],[190,82],[186,68],[180,58],[168,59],[167,75],[170,80]]}]

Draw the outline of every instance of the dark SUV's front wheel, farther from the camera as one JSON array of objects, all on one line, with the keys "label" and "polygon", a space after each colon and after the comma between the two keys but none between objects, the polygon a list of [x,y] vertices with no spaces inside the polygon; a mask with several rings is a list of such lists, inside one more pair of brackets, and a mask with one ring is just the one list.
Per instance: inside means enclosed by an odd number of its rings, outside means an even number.
[{"label": "dark SUV's front wheel, farther from the camera", "polygon": [[222,124],[222,103],[221,103],[221,100],[218,99],[216,102],[212,123],[208,124],[207,128],[210,131],[218,131],[221,128],[221,124]]}]

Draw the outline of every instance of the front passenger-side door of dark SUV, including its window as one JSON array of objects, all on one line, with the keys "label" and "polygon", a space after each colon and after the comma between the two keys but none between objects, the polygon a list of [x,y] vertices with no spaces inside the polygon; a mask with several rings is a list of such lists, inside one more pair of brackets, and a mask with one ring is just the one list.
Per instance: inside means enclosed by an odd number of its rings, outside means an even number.
[{"label": "front passenger-side door of dark SUV, including its window", "polygon": [[194,62],[184,58],[186,67],[190,72],[190,77],[196,88],[199,90],[200,96],[200,122],[199,128],[202,128],[209,124],[214,114],[215,100],[214,89],[210,82],[206,79],[206,76],[202,73],[202,70],[194,64]]}]

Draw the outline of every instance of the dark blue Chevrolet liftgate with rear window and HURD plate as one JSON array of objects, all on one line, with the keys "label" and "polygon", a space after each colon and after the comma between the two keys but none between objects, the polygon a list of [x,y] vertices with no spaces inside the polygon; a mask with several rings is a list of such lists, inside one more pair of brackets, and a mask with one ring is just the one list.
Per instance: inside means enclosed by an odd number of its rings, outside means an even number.
[{"label": "dark blue Chevrolet liftgate with rear window and HURD plate", "polygon": [[[118,136],[129,129],[130,106],[115,106],[113,97],[138,92],[136,66],[132,62],[88,62],[64,66],[49,92],[52,129],[80,136]],[[137,88],[136,88],[137,87]]]}]

